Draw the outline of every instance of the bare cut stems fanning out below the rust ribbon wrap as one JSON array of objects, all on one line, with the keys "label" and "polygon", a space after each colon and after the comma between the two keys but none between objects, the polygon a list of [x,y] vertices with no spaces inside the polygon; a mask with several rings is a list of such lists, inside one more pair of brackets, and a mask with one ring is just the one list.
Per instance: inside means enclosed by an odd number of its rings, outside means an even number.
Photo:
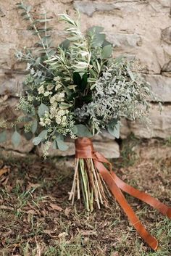
[{"label": "bare cut stems fanning out below the rust ribbon wrap", "polygon": [[101,205],[109,207],[109,190],[91,158],[75,158],[75,173],[69,197],[72,205],[75,197],[80,199],[81,195],[88,211],[92,212],[95,205],[99,209]]}]

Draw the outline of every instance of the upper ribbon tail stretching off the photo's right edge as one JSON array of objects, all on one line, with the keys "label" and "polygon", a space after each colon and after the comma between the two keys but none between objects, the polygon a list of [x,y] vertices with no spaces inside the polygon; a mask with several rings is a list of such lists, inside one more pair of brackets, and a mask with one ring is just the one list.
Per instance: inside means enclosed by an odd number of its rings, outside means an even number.
[{"label": "upper ribbon tail stretching off the photo's right edge", "polygon": [[149,194],[144,193],[143,191],[139,191],[138,189],[133,188],[132,186],[128,185],[124,181],[122,181],[119,177],[116,176],[114,172],[111,173],[114,182],[117,186],[125,191],[126,193],[130,194],[131,196],[140,199],[146,204],[151,205],[155,209],[159,210],[163,215],[167,215],[168,218],[171,218],[171,208],[164,205],[158,199],[151,197]]}]

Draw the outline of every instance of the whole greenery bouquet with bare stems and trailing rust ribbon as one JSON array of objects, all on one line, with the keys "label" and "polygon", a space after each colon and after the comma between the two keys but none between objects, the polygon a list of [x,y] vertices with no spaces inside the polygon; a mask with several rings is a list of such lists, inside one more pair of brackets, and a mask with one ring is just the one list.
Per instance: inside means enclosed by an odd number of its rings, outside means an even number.
[{"label": "whole greenery bouquet with bare stems and trailing rust ribbon", "polygon": [[33,20],[29,6],[21,2],[18,8],[38,37],[38,47],[17,52],[17,58],[27,62],[28,75],[17,106],[24,115],[14,123],[12,141],[20,143],[20,122],[25,123],[25,133],[29,139],[33,137],[33,144],[44,145],[45,157],[50,147],[66,150],[67,137],[75,140],[72,205],[83,199],[86,210],[93,211],[94,207],[109,207],[113,195],[143,239],[157,249],[157,240],[143,227],[120,189],[168,217],[171,209],[121,181],[108,160],[94,151],[91,141],[104,130],[119,138],[122,118],[150,123],[149,99],[154,95],[149,84],[133,72],[133,61],[113,57],[104,28],[95,26],[83,33],[78,21],[59,15],[59,22],[66,24],[66,39],[52,46],[46,12]]}]

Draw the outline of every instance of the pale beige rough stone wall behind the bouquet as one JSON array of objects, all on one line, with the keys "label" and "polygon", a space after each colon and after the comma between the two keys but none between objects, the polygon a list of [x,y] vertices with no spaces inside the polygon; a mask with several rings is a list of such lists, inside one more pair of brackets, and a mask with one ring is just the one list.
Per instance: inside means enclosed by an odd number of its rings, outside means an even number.
[{"label": "pale beige rough stone wall behind the bouquet", "polygon": [[[22,88],[25,67],[17,63],[14,57],[16,49],[32,46],[34,38],[26,30],[27,22],[20,17],[15,4],[18,0],[0,1],[0,117],[14,117],[14,105]],[[133,132],[143,138],[167,138],[171,136],[171,0],[29,0],[35,15],[45,8],[53,19],[52,37],[62,41],[62,25],[57,15],[62,12],[76,16],[75,9],[81,13],[82,29],[92,25],[104,27],[107,38],[114,44],[114,56],[136,57],[141,65],[141,73],[151,83],[154,92],[164,102],[160,115],[157,103],[152,103],[151,120],[153,131],[148,131],[138,123],[124,122],[122,138]],[[99,137],[99,141],[101,141]],[[103,139],[104,141],[104,139]],[[12,145],[2,146],[12,149]],[[33,146],[17,149],[18,152],[29,152]],[[119,147],[111,140],[101,141],[99,147],[106,151],[111,148],[109,156],[118,157]],[[107,146],[108,144],[108,146]],[[112,144],[115,145],[112,148]],[[71,149],[70,154],[73,153]]]}]

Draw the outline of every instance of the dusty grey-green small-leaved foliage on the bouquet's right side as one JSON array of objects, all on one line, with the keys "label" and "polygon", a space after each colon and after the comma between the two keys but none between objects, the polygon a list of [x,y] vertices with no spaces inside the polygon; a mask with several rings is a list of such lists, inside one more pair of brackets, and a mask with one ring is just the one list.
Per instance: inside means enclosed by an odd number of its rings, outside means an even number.
[{"label": "dusty grey-green small-leaved foliage on the bouquet's right side", "polygon": [[75,110],[82,123],[91,123],[96,131],[107,128],[114,137],[120,136],[120,125],[113,120],[142,120],[150,125],[149,99],[156,99],[149,83],[131,72],[126,59],[117,59],[94,83],[92,100]]}]

